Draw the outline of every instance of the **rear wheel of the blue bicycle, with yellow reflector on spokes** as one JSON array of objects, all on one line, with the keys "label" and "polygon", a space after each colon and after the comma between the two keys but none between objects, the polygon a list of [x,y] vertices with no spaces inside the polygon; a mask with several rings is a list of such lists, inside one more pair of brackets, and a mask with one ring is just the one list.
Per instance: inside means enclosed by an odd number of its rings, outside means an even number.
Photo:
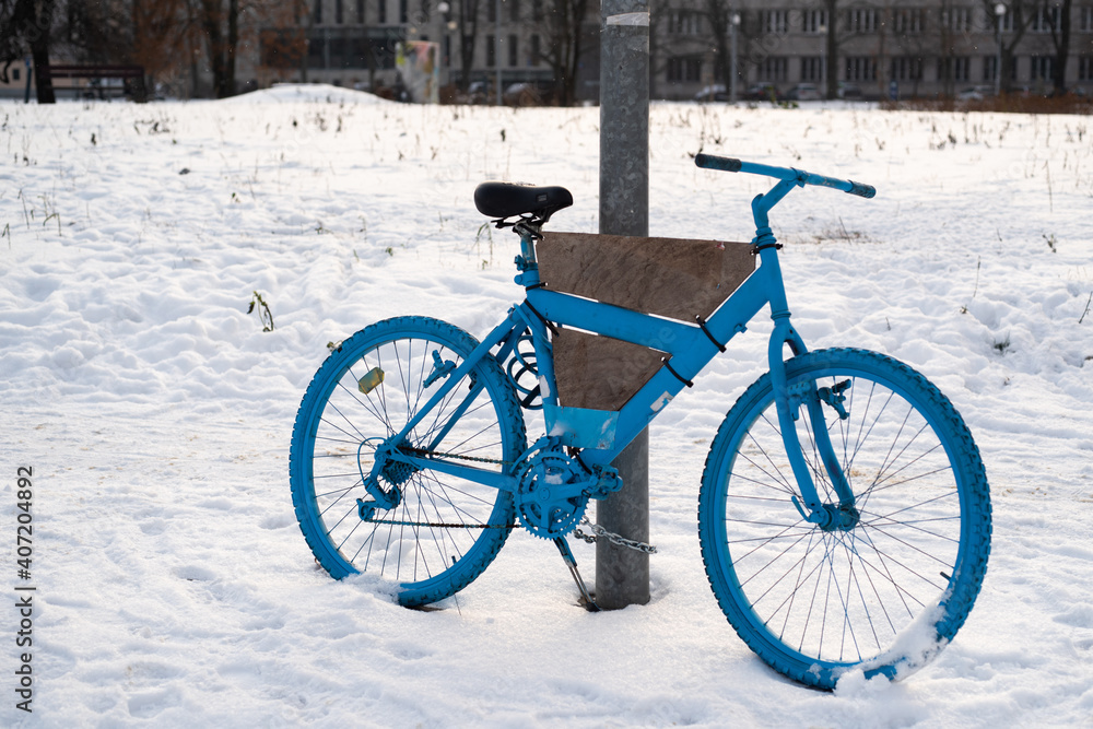
[{"label": "rear wheel of the blue bicycle, with yellow reflector on spokes", "polygon": [[[403,472],[398,506],[376,509],[369,520],[357,507],[371,498],[363,477],[375,445],[399,432],[446,377],[427,381],[435,357],[458,366],[477,345],[445,321],[398,317],[353,334],[316,372],[293,425],[290,483],[301,531],[334,578],[374,575],[393,583],[403,605],[423,605],[469,585],[504,545],[515,524],[512,494],[457,477]],[[365,392],[359,381],[374,368],[384,376]],[[481,389],[465,402],[475,384]],[[457,412],[460,404],[468,407]],[[443,442],[433,443],[448,425]],[[480,468],[513,463],[527,437],[516,391],[496,360],[484,357],[409,440]]]}]

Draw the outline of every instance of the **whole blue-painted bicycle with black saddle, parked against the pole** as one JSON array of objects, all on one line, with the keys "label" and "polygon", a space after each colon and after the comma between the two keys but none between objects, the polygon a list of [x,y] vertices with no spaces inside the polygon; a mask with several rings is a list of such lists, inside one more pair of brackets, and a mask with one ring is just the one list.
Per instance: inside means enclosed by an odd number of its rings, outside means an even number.
[{"label": "whole blue-painted bicycle with black saddle, parked against the pole", "polygon": [[[769,211],[807,185],[865,198],[873,188],[695,162],[777,181],[752,202],[759,264],[693,318],[552,289],[537,248],[569,192],[480,186],[479,211],[519,234],[525,299],[481,342],[444,321],[398,317],[333,348],[293,428],[301,529],[333,577],[392,580],[408,607],[467,587],[518,527],[553,541],[577,576],[565,539],[589,499],[621,487],[610,463],[769,307],[769,372],[729,410],[702,475],[710,586],[740,637],[797,681],[832,689],[854,668],[896,678],[952,639],[983,583],[991,522],[979,451],[922,375],[874,352],[810,352],[790,322]],[[578,334],[655,360],[613,404],[575,398],[555,360]],[[608,361],[609,371],[630,362]],[[543,435],[529,445],[525,415],[539,411]]]}]

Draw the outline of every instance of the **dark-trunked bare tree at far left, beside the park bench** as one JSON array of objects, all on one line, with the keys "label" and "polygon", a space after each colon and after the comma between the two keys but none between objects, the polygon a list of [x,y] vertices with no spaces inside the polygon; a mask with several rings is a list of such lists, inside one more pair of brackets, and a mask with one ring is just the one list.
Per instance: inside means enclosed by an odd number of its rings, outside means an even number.
[{"label": "dark-trunked bare tree at far left, beside the park bench", "polygon": [[56,4],[56,0],[0,0],[0,80],[8,82],[11,64],[30,56],[39,104],[57,103],[46,70]]}]

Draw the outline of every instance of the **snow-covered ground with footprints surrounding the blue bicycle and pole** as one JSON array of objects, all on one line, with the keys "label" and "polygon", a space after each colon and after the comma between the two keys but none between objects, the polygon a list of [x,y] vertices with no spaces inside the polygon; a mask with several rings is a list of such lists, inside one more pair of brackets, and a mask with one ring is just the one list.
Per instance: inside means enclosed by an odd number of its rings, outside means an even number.
[{"label": "snow-covered ground with footprints surrounding the blue bicycle and pole", "polygon": [[[436,612],[316,568],[286,467],[327,342],[399,314],[484,333],[519,290],[516,239],[481,227],[475,185],[565,185],[553,228],[595,232],[598,109],[331,87],[4,103],[0,725],[1093,726],[1090,119],[657,105],[651,121],[654,235],[750,239],[766,181],[697,169],[700,149],[877,186],[795,192],[773,223],[809,344],[912,364],[983,450],[990,567],[935,663],[819,693],[719,612],[697,484],[762,371],[762,325],[654,424],[650,604],[584,612],[557,554],[520,532]],[[256,292],[273,331],[247,313]],[[574,548],[593,581],[593,550]],[[32,648],[19,586],[36,588]]]}]

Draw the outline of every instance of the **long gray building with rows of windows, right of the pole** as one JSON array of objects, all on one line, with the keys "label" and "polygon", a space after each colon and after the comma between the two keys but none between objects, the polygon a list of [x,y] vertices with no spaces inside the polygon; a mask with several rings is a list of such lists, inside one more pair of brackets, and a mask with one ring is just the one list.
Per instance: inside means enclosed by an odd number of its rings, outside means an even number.
[{"label": "long gray building with rows of windows, right of the pole", "polygon": [[[667,0],[654,13],[653,33],[660,98],[731,86],[724,79],[732,70],[741,96],[755,86],[786,92],[797,84],[825,93],[828,71],[833,91],[854,89],[866,98],[990,94],[996,85],[1043,94],[1056,87],[1060,64],[1063,87],[1093,93],[1089,1]],[[725,57],[729,68],[718,72]]]}]

